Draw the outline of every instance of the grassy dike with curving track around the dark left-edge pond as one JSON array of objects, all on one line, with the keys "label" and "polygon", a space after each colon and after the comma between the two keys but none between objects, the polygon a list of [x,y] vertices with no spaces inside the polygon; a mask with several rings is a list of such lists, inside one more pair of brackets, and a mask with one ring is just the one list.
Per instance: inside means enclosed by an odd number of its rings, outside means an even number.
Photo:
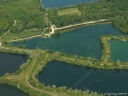
[{"label": "grassy dike with curving track around the dark left-edge pond", "polygon": [[30,96],[39,96],[39,93],[42,92],[40,96],[54,96],[51,92],[43,91],[43,89],[37,89],[30,85],[29,83],[29,73],[31,71],[32,66],[36,63],[36,60],[39,56],[36,50],[28,50],[28,49],[19,49],[19,48],[6,48],[1,47],[0,52],[5,53],[15,53],[15,54],[27,54],[29,55],[30,62],[20,69],[20,73],[14,72],[12,74],[5,75],[0,78],[0,84],[8,84],[12,86],[16,86],[18,89],[29,93]]}]

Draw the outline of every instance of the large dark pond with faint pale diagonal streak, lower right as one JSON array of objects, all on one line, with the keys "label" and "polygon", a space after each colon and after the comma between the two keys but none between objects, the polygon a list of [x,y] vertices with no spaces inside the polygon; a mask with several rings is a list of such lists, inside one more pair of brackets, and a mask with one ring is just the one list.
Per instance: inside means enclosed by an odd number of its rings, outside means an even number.
[{"label": "large dark pond with faint pale diagonal streak, lower right", "polygon": [[37,78],[46,86],[66,86],[98,93],[128,93],[128,71],[122,70],[106,71],[52,61]]}]

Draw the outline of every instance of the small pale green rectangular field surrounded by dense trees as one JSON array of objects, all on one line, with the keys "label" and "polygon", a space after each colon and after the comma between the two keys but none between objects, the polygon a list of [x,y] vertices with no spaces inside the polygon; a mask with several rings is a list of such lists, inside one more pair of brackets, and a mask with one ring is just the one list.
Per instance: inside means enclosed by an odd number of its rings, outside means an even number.
[{"label": "small pale green rectangular field surrounded by dense trees", "polygon": [[64,10],[59,10],[58,15],[63,16],[63,15],[81,15],[81,12],[77,8],[69,8],[69,9],[64,9]]}]

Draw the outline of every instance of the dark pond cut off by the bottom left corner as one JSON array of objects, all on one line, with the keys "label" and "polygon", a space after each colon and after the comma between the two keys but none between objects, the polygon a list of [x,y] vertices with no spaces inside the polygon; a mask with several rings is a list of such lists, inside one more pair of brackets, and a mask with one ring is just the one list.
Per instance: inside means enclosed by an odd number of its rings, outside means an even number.
[{"label": "dark pond cut off by the bottom left corner", "polygon": [[29,96],[29,95],[20,91],[16,87],[9,85],[0,85],[0,96]]}]

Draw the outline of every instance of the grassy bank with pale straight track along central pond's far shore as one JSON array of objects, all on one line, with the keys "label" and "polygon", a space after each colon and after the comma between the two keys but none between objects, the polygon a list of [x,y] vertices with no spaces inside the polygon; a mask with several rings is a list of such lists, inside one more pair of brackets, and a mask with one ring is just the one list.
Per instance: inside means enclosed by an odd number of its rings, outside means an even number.
[{"label": "grassy bank with pale straight track along central pond's far shore", "polygon": [[[0,37],[1,42],[16,42],[16,41],[23,41],[23,40],[28,40],[36,37],[51,37],[52,35],[58,35],[64,32],[68,32],[69,30],[74,30],[78,29],[84,26],[90,26],[90,25],[95,25],[95,24],[105,24],[105,23],[111,23],[110,20],[107,19],[102,19],[102,20],[97,20],[97,21],[89,21],[89,22],[84,22],[84,23],[78,23],[74,25],[69,25],[65,27],[60,27],[60,28],[54,28],[54,33],[50,34],[43,34],[42,30],[38,29],[31,29],[31,30],[25,30],[23,31],[22,34],[6,34],[5,36]],[[31,34],[30,34],[31,33]],[[48,36],[47,36],[48,35]]]}]

